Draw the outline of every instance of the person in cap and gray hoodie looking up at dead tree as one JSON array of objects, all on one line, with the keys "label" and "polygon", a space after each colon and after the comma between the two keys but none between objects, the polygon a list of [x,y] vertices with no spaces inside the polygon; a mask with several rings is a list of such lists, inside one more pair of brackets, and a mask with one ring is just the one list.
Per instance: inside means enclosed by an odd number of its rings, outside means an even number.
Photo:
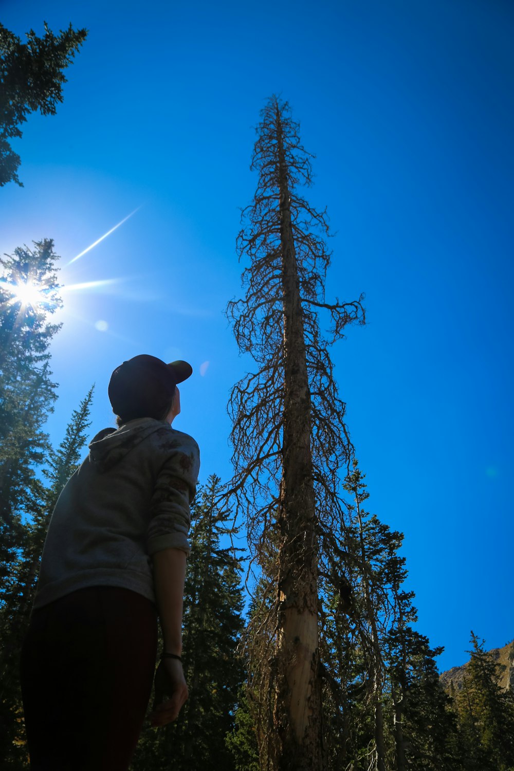
[{"label": "person in cap and gray hoodie looking up at dead tree", "polygon": [[[21,679],[32,771],[126,771],[156,665],[154,726],[187,699],[182,611],[200,452],[172,428],[183,361],[138,355],[109,382],[103,429],[62,490],[43,549]],[[167,696],[167,699],[163,697]]]}]

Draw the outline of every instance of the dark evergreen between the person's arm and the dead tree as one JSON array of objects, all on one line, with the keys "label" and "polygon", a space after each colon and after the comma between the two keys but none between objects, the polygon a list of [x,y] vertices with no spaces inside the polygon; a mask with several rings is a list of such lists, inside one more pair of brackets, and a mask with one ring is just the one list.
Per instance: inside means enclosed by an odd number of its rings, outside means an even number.
[{"label": "dark evergreen between the person's arm and the dead tree", "polygon": [[225,742],[244,679],[236,648],[243,629],[240,560],[230,543],[230,511],[217,505],[220,479],[211,475],[191,517],[183,616],[183,670],[190,697],[176,723],[146,727],[133,771],[235,771]]}]

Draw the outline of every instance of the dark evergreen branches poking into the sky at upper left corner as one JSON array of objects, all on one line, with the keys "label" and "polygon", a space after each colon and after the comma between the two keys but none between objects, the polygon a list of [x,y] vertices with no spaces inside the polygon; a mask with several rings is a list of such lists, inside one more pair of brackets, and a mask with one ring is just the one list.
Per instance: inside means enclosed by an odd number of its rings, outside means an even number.
[{"label": "dark evergreen branches poking into the sky at upper left corner", "polygon": [[61,30],[55,35],[45,22],[45,34],[39,38],[33,29],[27,42],[0,24],[0,187],[18,177],[21,159],[8,140],[21,137],[20,126],[29,113],[55,115],[62,102],[63,70],[86,39],[85,29]]}]

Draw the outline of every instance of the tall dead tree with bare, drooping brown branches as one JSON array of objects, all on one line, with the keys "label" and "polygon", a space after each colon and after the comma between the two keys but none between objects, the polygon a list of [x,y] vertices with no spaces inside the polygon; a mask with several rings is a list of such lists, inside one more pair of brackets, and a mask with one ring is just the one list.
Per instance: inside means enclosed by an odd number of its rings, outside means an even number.
[{"label": "tall dead tree with bare, drooping brown branches", "polygon": [[[363,295],[325,301],[328,222],[301,196],[311,185],[312,156],[289,106],[273,96],[261,119],[251,164],[257,191],[237,241],[240,259],[250,261],[246,294],[227,307],[240,351],[257,363],[230,396],[230,493],[246,517],[253,564],[269,555],[271,533],[279,542],[274,602],[264,620],[256,614],[260,634],[249,637],[254,695],[267,705],[260,711],[261,722],[267,715],[258,732],[261,767],[318,771],[318,571],[344,508],[338,472],[352,454],[328,346],[348,323],[364,324],[365,315]],[[320,313],[331,319],[327,336]]]}]

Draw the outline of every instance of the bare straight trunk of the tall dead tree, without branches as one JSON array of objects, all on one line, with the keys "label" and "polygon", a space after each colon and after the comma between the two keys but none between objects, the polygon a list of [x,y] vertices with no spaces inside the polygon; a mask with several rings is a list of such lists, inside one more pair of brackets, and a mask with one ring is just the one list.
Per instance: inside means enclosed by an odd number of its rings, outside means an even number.
[{"label": "bare straight trunk of the tall dead tree, without branches", "polygon": [[311,393],[294,249],[287,169],[277,107],[284,308],[284,434],[274,720],[281,739],[279,769],[318,771],[321,685],[318,678],[317,538],[311,457]]}]

